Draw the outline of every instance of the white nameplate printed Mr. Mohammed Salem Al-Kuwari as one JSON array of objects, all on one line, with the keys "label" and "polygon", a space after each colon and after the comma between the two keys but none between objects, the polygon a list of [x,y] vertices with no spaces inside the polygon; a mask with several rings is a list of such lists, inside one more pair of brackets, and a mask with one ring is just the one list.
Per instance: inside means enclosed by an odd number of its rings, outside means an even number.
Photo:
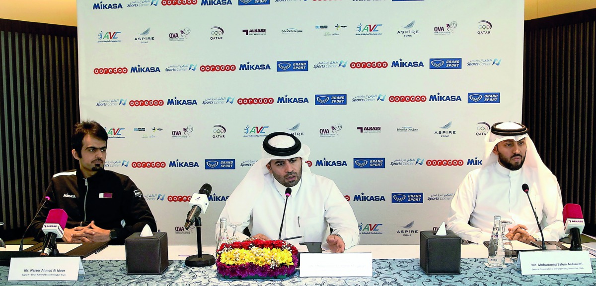
[{"label": "white nameplate printed Mr. Mohammed Salem Al-Kuwari", "polygon": [[519,268],[522,275],[592,273],[587,250],[521,251],[517,254],[516,269]]}]

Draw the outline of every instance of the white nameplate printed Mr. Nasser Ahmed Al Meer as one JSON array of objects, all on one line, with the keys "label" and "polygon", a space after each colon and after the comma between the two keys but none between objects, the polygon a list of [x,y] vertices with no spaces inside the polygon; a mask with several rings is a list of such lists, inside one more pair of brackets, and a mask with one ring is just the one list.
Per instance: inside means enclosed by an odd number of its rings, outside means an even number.
[{"label": "white nameplate printed Mr. Nasser Ahmed Al Meer", "polygon": [[77,281],[84,275],[79,256],[73,257],[13,257],[8,269],[8,281]]}]

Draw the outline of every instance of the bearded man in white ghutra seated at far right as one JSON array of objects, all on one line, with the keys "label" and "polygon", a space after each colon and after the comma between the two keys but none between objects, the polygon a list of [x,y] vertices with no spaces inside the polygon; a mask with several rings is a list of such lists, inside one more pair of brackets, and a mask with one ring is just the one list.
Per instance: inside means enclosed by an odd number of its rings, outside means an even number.
[{"label": "bearded man in white ghutra seated at far right", "polygon": [[544,239],[558,241],[565,236],[561,188],[527,131],[514,122],[492,126],[485,138],[482,168],[468,173],[451,200],[448,230],[465,240],[483,243],[491,239],[493,216],[500,215],[502,221],[513,222],[506,234],[510,240],[540,240],[532,207],[522,190],[527,184]]}]

